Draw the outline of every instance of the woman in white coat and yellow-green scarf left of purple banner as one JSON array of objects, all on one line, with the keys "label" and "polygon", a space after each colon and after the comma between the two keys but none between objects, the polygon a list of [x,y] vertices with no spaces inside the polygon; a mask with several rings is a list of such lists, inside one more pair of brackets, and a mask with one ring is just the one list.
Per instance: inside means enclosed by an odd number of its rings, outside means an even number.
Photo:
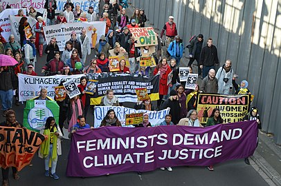
[{"label": "woman in white coat and yellow-green scarf left of purple banner", "polygon": [[[57,127],[55,118],[52,116],[47,118],[45,128],[40,131],[40,134],[48,136],[39,149],[39,157],[44,158],[45,161],[45,176],[51,176],[57,180],[60,177],[55,174],[55,168],[57,167],[57,156],[62,155],[62,145],[60,141],[60,138],[62,138],[62,132],[60,127]],[[51,174],[49,170],[50,162]]]}]

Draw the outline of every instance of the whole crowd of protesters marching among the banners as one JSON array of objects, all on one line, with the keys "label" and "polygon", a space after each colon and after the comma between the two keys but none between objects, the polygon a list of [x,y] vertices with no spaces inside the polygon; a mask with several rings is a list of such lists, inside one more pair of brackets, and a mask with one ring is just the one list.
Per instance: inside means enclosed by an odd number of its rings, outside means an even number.
[{"label": "whole crowd of protesters marching among the banners", "polygon": [[[161,125],[188,125],[193,127],[204,127],[197,118],[197,97],[199,93],[215,93],[215,94],[251,94],[248,90],[248,82],[243,80],[240,85],[237,85],[235,79],[237,75],[231,68],[232,61],[226,60],[217,72],[215,65],[219,64],[218,51],[215,45],[212,44],[212,39],[208,38],[206,43],[203,41],[203,34],[194,35],[194,37],[186,39],[188,45],[183,46],[183,39],[178,35],[174,17],[168,17],[167,23],[164,24],[161,34],[158,36],[158,45],[155,46],[154,53],[149,52],[149,46],[144,48],[135,47],[135,40],[132,37],[130,28],[145,27],[147,17],[145,10],[136,8],[131,16],[128,16],[126,8],[127,1],[113,1],[113,3],[105,2],[102,12],[95,12],[93,7],[83,11],[79,5],[74,7],[73,3],[68,0],[64,6],[64,12],[55,14],[57,2],[55,0],[46,0],[44,8],[47,10],[46,23],[42,19],[42,14],[37,12],[35,8],[30,7],[28,15],[37,19],[34,30],[30,30],[33,36],[27,37],[26,28],[28,27],[28,19],[23,11],[19,11],[17,16],[21,17],[19,21],[20,40],[15,41],[14,35],[10,35],[8,41],[0,37],[0,53],[6,54],[18,62],[15,66],[0,67],[0,98],[2,115],[6,116],[6,121],[0,123],[3,126],[22,127],[19,123],[12,120],[15,117],[15,112],[12,111],[13,90],[17,90],[19,80],[18,73],[37,76],[35,72],[35,64],[38,57],[46,53],[46,65],[41,70],[41,74],[45,76],[55,74],[89,74],[110,72],[109,56],[126,56],[120,61],[120,70],[118,73],[127,73],[136,76],[154,76],[158,74],[159,80],[159,99],[155,110],[163,110],[170,108],[170,114],[165,116],[165,121]],[[87,37],[86,29],[82,29],[80,34],[72,32],[69,36],[69,41],[66,41],[64,51],[60,52],[57,45],[57,39],[53,37],[46,46],[44,46],[44,26],[53,24],[73,23],[76,21],[105,21],[105,35],[100,37],[91,50],[90,41],[93,38]],[[3,30],[0,30],[2,32]],[[164,36],[165,33],[165,36]],[[163,47],[162,45],[165,45]],[[189,50],[189,61],[183,59],[183,51],[185,48]],[[161,50],[163,52],[161,52]],[[159,52],[160,51],[160,52]],[[95,58],[87,61],[87,56],[93,52]],[[38,53],[38,55],[37,55]],[[152,56],[156,64],[152,67],[142,67],[140,65],[139,56]],[[195,90],[185,89],[185,82],[179,81],[179,67],[189,67],[189,72],[192,73],[192,67],[196,65],[192,63],[197,61],[199,78],[203,79],[200,85],[197,85]],[[82,68],[76,68],[76,63],[81,63]],[[127,65],[129,63],[129,67]],[[89,65],[88,65],[89,64]],[[172,72],[172,81],[167,84],[167,76]],[[202,74],[201,74],[202,73]],[[75,96],[69,99],[66,96],[64,101],[57,101],[60,106],[60,121],[55,121],[55,118],[49,117],[46,120],[46,125],[42,134],[50,136],[48,141],[42,144],[39,154],[45,159],[45,176],[51,176],[58,179],[55,174],[57,165],[57,156],[61,154],[61,149],[53,145],[60,146],[60,138],[63,136],[63,127],[65,121],[69,124],[69,137],[73,136],[76,130],[92,128],[86,124],[85,119],[90,107],[91,96],[85,94],[87,85],[87,76],[82,76],[78,88],[80,96]],[[60,83],[62,85],[63,81]],[[234,92],[235,91],[235,92]],[[19,96],[15,96],[15,105],[19,105]],[[47,96],[47,90],[40,90],[39,96],[35,97],[39,100],[53,100]],[[107,90],[102,98],[100,105],[104,106],[119,106],[122,105],[118,101],[118,97],[114,95],[114,90]],[[136,110],[154,110],[154,106],[150,99],[136,102],[134,105]],[[244,120],[257,120],[260,127],[260,117],[257,114],[257,108],[253,108]],[[56,124],[57,123],[57,124]],[[206,126],[217,125],[223,123],[219,110],[212,110],[212,114],[208,118]],[[147,114],[143,115],[143,123],[135,125],[135,127],[152,127],[153,123],[148,120]],[[118,126],[121,123],[118,120],[114,110],[109,110],[102,120],[102,126]],[[49,161],[51,159],[51,172],[49,172]],[[248,157],[245,158],[248,164]],[[162,167],[161,169],[165,169]],[[208,169],[213,170],[213,166],[208,166]],[[167,167],[168,171],[172,171],[172,167]],[[3,185],[8,185],[8,170],[2,168]],[[17,172],[12,169],[13,176],[18,179]]]}]

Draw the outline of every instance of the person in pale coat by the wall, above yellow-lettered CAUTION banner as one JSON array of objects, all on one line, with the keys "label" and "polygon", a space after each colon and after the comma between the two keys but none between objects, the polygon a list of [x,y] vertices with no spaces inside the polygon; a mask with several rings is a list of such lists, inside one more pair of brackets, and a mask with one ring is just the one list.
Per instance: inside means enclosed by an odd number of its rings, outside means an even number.
[{"label": "person in pale coat by the wall, above yellow-lettered CAUTION banner", "polygon": [[230,94],[233,89],[233,69],[231,68],[230,59],[226,60],[226,63],[222,65],[222,67],[217,70],[216,78],[219,85],[219,90],[217,93],[219,94]]}]

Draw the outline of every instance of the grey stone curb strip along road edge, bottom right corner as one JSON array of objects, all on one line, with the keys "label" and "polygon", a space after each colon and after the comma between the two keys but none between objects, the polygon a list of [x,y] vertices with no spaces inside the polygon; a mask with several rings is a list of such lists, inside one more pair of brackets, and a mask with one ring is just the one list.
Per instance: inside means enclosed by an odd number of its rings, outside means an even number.
[{"label": "grey stone curb strip along road edge, bottom right corner", "polygon": [[255,152],[251,159],[262,169],[262,171],[269,177],[275,185],[281,186],[281,176],[278,172],[267,163],[267,161],[258,153]]}]

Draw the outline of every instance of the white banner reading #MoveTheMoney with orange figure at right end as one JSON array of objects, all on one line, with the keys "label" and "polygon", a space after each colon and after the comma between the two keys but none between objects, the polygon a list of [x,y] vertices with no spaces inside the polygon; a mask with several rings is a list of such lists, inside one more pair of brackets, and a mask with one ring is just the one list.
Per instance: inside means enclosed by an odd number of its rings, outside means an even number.
[{"label": "white banner reading #MoveTheMoney with orange figure at right end", "polygon": [[63,51],[66,41],[71,39],[71,32],[76,32],[78,36],[82,28],[86,28],[91,46],[96,45],[96,43],[93,42],[98,42],[102,34],[105,35],[105,21],[62,23],[45,26],[43,29],[47,43],[51,41],[52,37],[55,37],[60,51]]}]

